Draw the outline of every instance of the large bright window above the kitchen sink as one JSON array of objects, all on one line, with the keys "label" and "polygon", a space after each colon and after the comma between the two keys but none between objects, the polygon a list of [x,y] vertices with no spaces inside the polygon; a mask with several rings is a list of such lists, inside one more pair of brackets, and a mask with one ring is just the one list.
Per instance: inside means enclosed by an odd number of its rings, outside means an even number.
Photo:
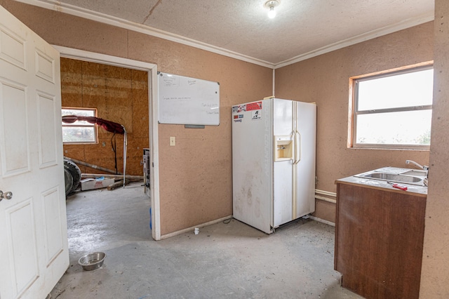
[{"label": "large bright window above the kitchen sink", "polygon": [[429,149],[431,65],[351,78],[351,146]]}]

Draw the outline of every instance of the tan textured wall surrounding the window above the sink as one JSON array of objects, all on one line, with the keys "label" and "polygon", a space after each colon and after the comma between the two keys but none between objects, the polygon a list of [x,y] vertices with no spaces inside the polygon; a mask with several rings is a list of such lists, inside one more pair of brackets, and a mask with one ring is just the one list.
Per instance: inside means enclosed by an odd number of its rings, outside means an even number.
[{"label": "tan textured wall surrounding the window above the sink", "polygon": [[[276,97],[316,102],[316,175],[319,190],[335,192],[335,180],[382,166],[429,164],[429,151],[347,148],[349,77],[433,59],[433,22],[371,39],[276,69]],[[329,211],[331,209],[331,211]],[[333,221],[335,206],[317,204],[316,216]]]}]

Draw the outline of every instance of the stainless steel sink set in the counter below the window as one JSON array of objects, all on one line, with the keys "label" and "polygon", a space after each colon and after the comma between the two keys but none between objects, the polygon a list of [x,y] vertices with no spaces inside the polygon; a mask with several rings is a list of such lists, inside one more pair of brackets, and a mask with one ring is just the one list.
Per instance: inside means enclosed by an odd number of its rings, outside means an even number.
[{"label": "stainless steel sink set in the counter below the window", "polygon": [[424,186],[424,178],[426,178],[426,175],[426,171],[415,171],[414,169],[408,168],[384,167],[376,169],[375,171],[368,171],[366,173],[361,173],[354,176],[358,178],[385,180],[388,182]]}]

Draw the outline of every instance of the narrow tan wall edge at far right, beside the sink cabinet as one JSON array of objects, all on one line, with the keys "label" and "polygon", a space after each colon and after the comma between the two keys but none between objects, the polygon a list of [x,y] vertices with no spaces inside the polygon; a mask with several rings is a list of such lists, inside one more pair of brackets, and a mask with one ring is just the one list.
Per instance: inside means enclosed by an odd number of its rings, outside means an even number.
[{"label": "narrow tan wall edge at far right, beside the sink cabinet", "polygon": [[435,1],[434,109],[420,298],[449,298],[449,2]]}]

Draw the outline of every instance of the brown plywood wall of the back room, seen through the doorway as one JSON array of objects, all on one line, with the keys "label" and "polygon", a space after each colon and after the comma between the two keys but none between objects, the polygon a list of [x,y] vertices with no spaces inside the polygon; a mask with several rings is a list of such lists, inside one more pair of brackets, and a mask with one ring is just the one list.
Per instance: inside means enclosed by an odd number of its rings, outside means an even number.
[{"label": "brown plywood wall of the back room, seen through the doorway", "polygon": [[[147,72],[61,58],[61,94],[62,107],[95,108],[100,119],[123,125],[128,133],[126,173],[142,175],[142,149],[149,147]],[[97,144],[64,145],[64,155],[123,173],[123,135],[98,127]]]}]

